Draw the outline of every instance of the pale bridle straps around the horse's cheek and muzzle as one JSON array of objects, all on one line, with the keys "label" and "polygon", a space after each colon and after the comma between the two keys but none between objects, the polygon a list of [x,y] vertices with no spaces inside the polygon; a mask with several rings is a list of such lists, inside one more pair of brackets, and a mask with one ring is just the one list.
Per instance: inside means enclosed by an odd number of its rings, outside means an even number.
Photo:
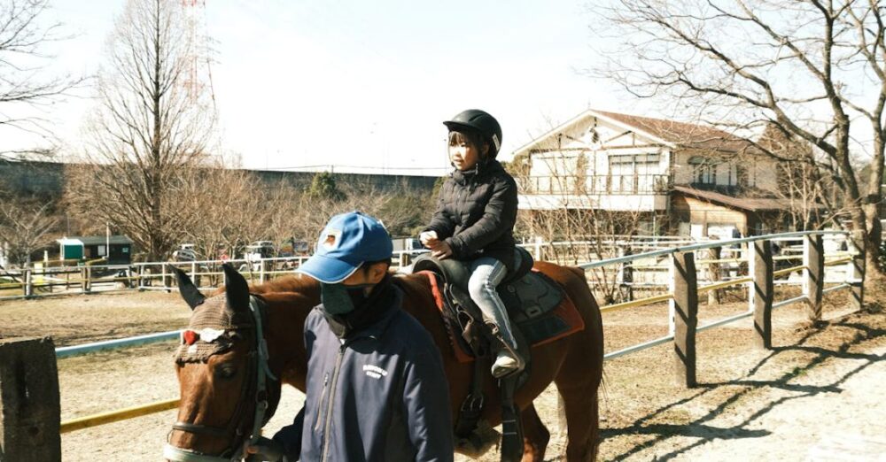
[{"label": "pale bridle straps around the horse's cheek and muzzle", "polygon": [[[264,424],[265,412],[268,410],[268,379],[277,381],[276,376],[268,367],[268,343],[265,341],[262,329],[262,304],[264,302],[257,296],[249,296],[249,309],[253,313],[255,321],[255,348],[249,352],[248,373],[255,375],[255,381],[244,381],[237,408],[231,415],[228,424],[224,427],[209,427],[205,425],[191,424],[188,422],[175,422],[172,430],[167,435],[167,443],[163,446],[163,457],[175,462],[230,462],[240,460],[243,456],[244,440],[248,438],[249,444],[255,444],[260,436],[261,426]],[[246,399],[254,389],[255,412],[253,415],[253,427],[248,435],[245,435],[245,427],[248,420],[243,420]],[[203,454],[195,450],[183,450],[168,443],[168,438],[175,430],[224,438],[233,435],[233,443],[228,449],[221,452],[221,456]],[[227,454],[227,456],[226,456]]]}]

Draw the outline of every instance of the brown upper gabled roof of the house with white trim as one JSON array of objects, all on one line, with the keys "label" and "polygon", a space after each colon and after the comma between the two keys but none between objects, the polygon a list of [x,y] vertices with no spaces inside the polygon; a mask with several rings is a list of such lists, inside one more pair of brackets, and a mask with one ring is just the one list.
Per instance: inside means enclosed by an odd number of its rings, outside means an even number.
[{"label": "brown upper gabled roof of the house with white trim", "polygon": [[715,127],[588,109],[515,150],[514,154],[517,155],[521,152],[532,150],[551,136],[563,133],[588,118],[603,119],[613,125],[625,128],[654,142],[672,148],[680,146],[703,150],[738,152],[747,150],[752,146],[747,140]]}]

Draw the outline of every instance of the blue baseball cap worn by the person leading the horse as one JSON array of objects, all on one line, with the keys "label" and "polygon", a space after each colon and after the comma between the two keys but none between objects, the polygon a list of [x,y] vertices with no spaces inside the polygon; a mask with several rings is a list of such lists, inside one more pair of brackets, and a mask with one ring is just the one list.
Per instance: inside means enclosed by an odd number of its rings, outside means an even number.
[{"label": "blue baseball cap worn by the person leading the horse", "polygon": [[393,244],[382,222],[361,212],[336,215],[320,233],[316,250],[298,270],[317,281],[345,281],[363,263],[391,258]]}]

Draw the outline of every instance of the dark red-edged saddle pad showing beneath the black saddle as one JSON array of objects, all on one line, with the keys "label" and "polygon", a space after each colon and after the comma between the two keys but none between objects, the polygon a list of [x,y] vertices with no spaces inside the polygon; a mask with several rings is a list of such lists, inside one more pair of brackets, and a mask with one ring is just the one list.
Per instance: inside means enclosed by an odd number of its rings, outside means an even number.
[{"label": "dark red-edged saddle pad showing beneath the black saddle", "polygon": [[[534,271],[534,270],[533,270]],[[437,275],[430,271],[422,271],[431,282],[431,293],[434,296],[434,303],[442,316],[444,310],[443,292],[439,287]],[[448,326],[448,325],[447,325]],[[563,296],[560,304],[556,308],[541,315],[540,317],[526,320],[517,324],[517,328],[523,333],[526,342],[531,346],[539,346],[545,343],[551,343],[561,339],[567,335],[574,334],[585,328],[585,321],[581,319],[578,309],[572,303],[568,296]],[[447,328],[449,335],[449,343],[452,345],[455,359],[460,363],[470,363],[474,360],[468,350],[462,347],[462,343],[455,339],[461,337],[461,332],[454,332],[452,327]]]}]

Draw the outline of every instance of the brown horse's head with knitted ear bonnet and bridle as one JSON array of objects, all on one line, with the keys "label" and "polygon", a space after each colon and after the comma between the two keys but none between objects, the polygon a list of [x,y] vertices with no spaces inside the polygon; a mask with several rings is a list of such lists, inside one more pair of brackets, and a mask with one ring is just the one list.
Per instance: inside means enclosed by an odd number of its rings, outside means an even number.
[{"label": "brown horse's head with knitted ear bonnet and bridle", "polygon": [[276,407],[279,400],[262,335],[262,302],[250,296],[245,279],[232,266],[223,268],[225,289],[210,297],[174,268],[192,313],[175,351],[181,401],[163,450],[167,460],[238,458],[243,443],[273,413],[266,412],[268,406]]}]

